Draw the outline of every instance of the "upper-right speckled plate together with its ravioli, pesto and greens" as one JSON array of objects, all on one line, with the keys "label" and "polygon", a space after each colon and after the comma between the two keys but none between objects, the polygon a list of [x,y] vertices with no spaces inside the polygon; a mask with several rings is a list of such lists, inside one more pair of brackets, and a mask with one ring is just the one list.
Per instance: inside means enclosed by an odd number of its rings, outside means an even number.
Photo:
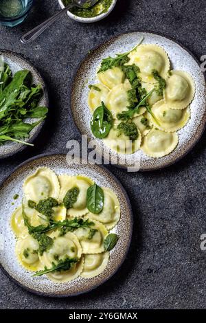
[{"label": "upper-right speckled plate together with its ravioli, pesto and greens", "polygon": [[82,62],[71,111],[99,155],[124,168],[154,170],[183,157],[201,137],[205,92],[190,52],[164,36],[133,32]]}]

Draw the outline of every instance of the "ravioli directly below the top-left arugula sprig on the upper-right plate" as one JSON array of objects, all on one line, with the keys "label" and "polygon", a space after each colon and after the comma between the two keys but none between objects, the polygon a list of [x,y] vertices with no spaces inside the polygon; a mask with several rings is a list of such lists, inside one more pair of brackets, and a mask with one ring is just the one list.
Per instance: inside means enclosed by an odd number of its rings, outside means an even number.
[{"label": "ravioli directly below the top-left arugula sprig on the upper-right plate", "polygon": [[98,80],[108,89],[113,89],[116,85],[123,83],[124,78],[124,73],[119,67],[113,67],[98,73]]}]

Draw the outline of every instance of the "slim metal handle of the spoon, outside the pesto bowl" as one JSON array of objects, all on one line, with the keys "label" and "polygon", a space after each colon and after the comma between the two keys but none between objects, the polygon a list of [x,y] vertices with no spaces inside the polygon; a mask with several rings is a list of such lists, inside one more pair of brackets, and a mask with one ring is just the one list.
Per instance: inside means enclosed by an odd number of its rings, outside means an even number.
[{"label": "slim metal handle of the spoon, outside the pesto bowl", "polygon": [[38,25],[34,29],[30,30],[30,32],[27,32],[27,34],[24,34],[21,37],[21,43],[26,44],[34,41],[34,39],[40,36],[50,25],[52,25],[63,12],[73,8],[74,6],[74,4],[67,5],[66,8],[54,14],[54,16],[41,23],[41,25]]}]

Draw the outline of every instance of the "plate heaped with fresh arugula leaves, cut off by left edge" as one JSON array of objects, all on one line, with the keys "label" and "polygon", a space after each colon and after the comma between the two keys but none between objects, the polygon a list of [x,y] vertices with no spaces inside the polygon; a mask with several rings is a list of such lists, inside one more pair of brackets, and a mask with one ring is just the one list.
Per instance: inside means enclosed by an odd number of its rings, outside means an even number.
[{"label": "plate heaped with fresh arugula leaves, cut off by left edge", "polygon": [[47,113],[47,89],[38,71],[18,54],[0,50],[0,158],[34,146]]}]

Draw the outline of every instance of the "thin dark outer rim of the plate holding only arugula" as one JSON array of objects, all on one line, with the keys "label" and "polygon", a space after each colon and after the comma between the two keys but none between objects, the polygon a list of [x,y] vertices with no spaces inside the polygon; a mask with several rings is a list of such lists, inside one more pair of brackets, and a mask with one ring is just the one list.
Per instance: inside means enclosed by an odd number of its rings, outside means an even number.
[{"label": "thin dark outer rim of the plate holding only arugula", "polygon": [[[0,54],[3,54],[3,53],[4,54],[10,54],[12,56],[16,56],[16,58],[18,58],[19,60],[23,60],[25,63],[27,63],[27,65],[29,65],[33,69],[36,76],[38,76],[38,78],[40,78],[40,80],[41,80],[41,82],[43,84],[44,97],[45,97],[45,101],[47,102],[47,107],[49,109],[49,92],[48,92],[48,89],[47,89],[47,84],[46,84],[43,76],[41,76],[41,73],[38,71],[38,69],[36,69],[36,67],[34,67],[34,65],[30,62],[30,59],[25,58],[21,53],[16,53],[16,52],[13,52],[12,50],[9,50],[9,49],[1,49],[0,48]],[[38,126],[38,129],[36,129],[36,131],[34,132],[32,137],[30,137],[27,142],[32,143],[32,142],[34,142],[34,140],[36,140],[38,135],[41,133],[41,131],[43,129],[43,126],[45,126],[45,122],[46,122],[46,119],[44,119],[41,122],[40,126]],[[0,160],[1,159],[6,159],[8,157],[12,157],[12,156],[16,155],[17,153],[21,153],[21,151],[24,151],[26,148],[28,148],[28,146],[23,144],[15,152],[10,152],[10,153],[7,153],[6,155],[0,155]]]}]

